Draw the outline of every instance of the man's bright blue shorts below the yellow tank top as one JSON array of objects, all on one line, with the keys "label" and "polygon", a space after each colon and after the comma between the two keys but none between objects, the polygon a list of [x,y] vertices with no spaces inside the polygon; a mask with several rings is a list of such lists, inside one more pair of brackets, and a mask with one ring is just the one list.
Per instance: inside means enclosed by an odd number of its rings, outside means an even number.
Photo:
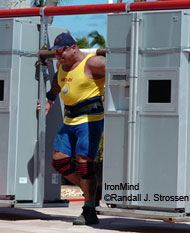
[{"label": "man's bright blue shorts below the yellow tank top", "polygon": [[104,128],[104,120],[79,125],[63,124],[54,140],[54,151],[71,157],[87,156],[95,159]]}]

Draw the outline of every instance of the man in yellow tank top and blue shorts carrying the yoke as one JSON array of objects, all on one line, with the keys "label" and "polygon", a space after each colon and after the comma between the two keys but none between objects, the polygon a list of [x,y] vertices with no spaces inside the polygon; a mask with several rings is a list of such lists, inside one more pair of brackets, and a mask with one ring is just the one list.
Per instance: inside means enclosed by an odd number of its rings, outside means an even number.
[{"label": "man in yellow tank top and blue shorts carrying the yoke", "polygon": [[[52,165],[84,192],[83,212],[73,224],[97,224],[94,159],[104,124],[105,57],[81,52],[66,33],[55,38],[51,50],[55,50],[58,71],[47,93],[46,113],[59,93],[65,105],[64,122],[54,141]],[[76,163],[72,158],[76,158]]]}]

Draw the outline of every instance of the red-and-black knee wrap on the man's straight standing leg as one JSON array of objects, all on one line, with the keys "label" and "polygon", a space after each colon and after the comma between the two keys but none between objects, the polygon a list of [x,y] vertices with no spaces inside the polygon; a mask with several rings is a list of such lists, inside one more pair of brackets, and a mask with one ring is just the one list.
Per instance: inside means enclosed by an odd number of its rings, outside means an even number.
[{"label": "red-and-black knee wrap on the man's straight standing leg", "polygon": [[88,179],[88,180],[94,179],[94,175],[95,175],[94,162],[77,163],[76,171],[82,179]]}]

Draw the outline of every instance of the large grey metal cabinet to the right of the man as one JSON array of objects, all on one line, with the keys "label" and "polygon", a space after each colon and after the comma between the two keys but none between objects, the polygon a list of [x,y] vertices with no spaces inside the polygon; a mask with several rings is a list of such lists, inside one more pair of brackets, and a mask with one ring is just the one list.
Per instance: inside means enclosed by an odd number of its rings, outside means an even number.
[{"label": "large grey metal cabinet to the right of the man", "polygon": [[107,204],[190,212],[189,28],[189,10],[108,15]]}]

